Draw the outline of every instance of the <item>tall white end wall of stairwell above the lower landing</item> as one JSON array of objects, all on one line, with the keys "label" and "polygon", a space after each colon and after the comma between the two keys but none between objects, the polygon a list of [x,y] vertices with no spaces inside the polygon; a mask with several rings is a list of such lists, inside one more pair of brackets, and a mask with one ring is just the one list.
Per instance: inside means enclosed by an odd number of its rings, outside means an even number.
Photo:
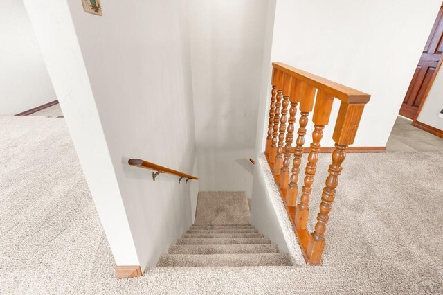
[{"label": "tall white end wall of stairwell above the lower landing", "polygon": [[245,190],[251,197],[251,172],[237,160],[253,157],[268,3],[188,5],[200,190]]}]

